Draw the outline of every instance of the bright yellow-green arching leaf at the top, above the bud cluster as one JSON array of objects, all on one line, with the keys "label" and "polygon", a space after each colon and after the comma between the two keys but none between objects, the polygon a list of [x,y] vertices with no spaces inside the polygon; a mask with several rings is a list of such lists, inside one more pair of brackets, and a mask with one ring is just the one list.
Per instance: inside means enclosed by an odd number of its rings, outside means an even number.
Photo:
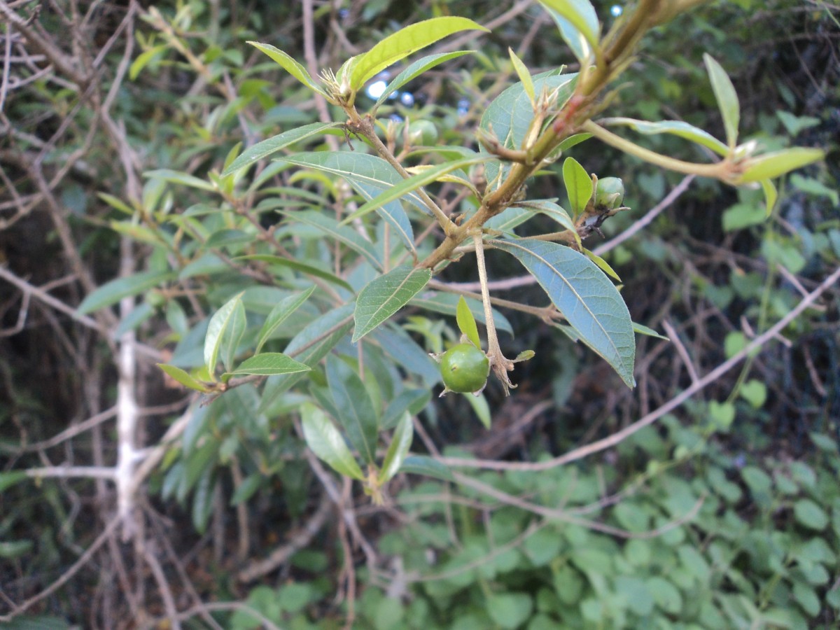
[{"label": "bright yellow-green arching leaf at the top, above the bud cluster", "polygon": [[413,52],[434,44],[438,39],[462,30],[483,30],[480,24],[467,18],[432,18],[411,24],[382,39],[356,61],[350,74],[350,87],[358,90],[365,81]]}]

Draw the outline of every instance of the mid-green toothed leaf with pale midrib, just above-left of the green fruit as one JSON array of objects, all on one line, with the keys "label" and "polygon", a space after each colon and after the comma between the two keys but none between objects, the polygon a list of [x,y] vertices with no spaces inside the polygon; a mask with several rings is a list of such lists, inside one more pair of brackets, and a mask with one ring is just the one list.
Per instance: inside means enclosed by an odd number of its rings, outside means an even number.
[{"label": "mid-green toothed leaf with pale midrib, just above-left of the green fruit", "polygon": [[432,278],[432,270],[400,265],[368,283],[356,298],[353,342],[399,311]]}]

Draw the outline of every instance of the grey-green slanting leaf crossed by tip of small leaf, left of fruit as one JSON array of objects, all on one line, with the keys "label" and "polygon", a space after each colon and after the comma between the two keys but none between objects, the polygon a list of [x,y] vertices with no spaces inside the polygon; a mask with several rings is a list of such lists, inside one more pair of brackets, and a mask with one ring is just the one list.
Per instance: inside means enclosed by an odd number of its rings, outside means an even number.
[{"label": "grey-green slanting leaf crossed by tip of small leaf, left of fruit", "polygon": [[[300,333],[297,333],[286,346],[283,354],[293,359],[314,367],[322,360],[327,353],[344,338],[350,327],[353,325],[354,304],[344,304],[339,308],[324,313],[321,317],[310,323]],[[297,381],[300,381],[304,372],[269,376],[263,390],[262,401],[258,412],[263,413],[276,399],[286,392]]]}]

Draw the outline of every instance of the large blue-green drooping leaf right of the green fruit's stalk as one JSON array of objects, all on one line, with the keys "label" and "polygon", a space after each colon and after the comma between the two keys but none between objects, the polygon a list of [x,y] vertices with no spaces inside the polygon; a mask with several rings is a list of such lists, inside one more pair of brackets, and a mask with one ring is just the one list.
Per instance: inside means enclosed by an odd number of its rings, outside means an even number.
[{"label": "large blue-green drooping leaf right of the green fruit's stalk", "polygon": [[636,340],[627,305],[612,282],[584,255],[549,241],[488,241],[507,251],[537,279],[551,302],[580,334],[633,387]]}]

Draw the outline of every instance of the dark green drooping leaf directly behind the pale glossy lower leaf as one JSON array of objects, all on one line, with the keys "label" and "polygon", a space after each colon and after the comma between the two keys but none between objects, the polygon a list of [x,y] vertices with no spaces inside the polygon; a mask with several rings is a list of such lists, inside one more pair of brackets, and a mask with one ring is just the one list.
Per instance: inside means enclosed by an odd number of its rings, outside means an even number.
[{"label": "dark green drooping leaf directly behind the pale glossy lower leaf", "polygon": [[379,418],[365,383],[335,354],[327,357],[327,383],[339,412],[339,423],[347,432],[350,444],[368,464],[373,464]]}]

